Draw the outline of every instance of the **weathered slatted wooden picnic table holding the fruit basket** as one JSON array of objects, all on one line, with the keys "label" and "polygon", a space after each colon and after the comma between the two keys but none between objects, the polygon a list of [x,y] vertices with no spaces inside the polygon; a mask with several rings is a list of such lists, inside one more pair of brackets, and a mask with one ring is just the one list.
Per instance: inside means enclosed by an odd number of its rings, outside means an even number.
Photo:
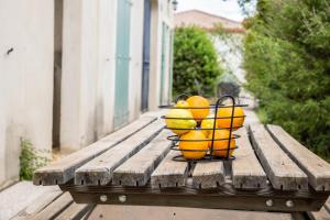
[{"label": "weathered slatted wooden picnic table holding the fruit basket", "polygon": [[280,127],[241,129],[233,161],[172,158],[158,117],[144,116],[35,172],[35,185],[59,185],[77,204],[175,206],[300,212],[330,194],[330,164]]}]

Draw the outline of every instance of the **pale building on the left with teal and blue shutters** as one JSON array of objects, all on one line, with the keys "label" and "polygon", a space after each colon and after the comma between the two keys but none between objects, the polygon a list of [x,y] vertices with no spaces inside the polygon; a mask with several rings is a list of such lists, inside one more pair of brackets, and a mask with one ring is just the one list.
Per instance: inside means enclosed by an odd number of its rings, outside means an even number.
[{"label": "pale building on the left with teal and blue shutters", "polygon": [[169,99],[168,0],[0,2],[0,188],[20,139],[77,151]]}]

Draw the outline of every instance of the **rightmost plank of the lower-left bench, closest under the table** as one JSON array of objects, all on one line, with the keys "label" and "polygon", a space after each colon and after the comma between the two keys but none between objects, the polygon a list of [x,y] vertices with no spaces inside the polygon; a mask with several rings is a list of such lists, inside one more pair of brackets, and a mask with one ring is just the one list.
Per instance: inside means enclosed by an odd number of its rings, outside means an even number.
[{"label": "rightmost plank of the lower-left bench, closest under the table", "polygon": [[69,219],[81,219],[92,207],[88,204],[72,204],[67,209],[65,209],[56,220],[69,220]]}]

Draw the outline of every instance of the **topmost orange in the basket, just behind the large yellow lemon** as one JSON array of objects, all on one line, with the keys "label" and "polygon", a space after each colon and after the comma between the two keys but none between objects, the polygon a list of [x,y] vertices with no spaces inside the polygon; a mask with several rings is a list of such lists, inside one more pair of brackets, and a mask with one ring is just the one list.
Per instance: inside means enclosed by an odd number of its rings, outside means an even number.
[{"label": "topmost orange in the basket, just behind the large yellow lemon", "polygon": [[186,100],[190,108],[205,108],[205,109],[190,109],[195,120],[200,122],[210,112],[210,102],[201,96],[193,96]]}]

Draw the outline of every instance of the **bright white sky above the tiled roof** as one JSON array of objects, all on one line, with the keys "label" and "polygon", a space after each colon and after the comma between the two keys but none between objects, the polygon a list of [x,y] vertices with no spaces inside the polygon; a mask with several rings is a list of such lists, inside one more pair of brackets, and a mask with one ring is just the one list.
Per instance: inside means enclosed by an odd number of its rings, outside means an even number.
[{"label": "bright white sky above the tiled roof", "polygon": [[234,21],[242,21],[244,15],[237,0],[177,0],[177,12],[198,9]]}]

